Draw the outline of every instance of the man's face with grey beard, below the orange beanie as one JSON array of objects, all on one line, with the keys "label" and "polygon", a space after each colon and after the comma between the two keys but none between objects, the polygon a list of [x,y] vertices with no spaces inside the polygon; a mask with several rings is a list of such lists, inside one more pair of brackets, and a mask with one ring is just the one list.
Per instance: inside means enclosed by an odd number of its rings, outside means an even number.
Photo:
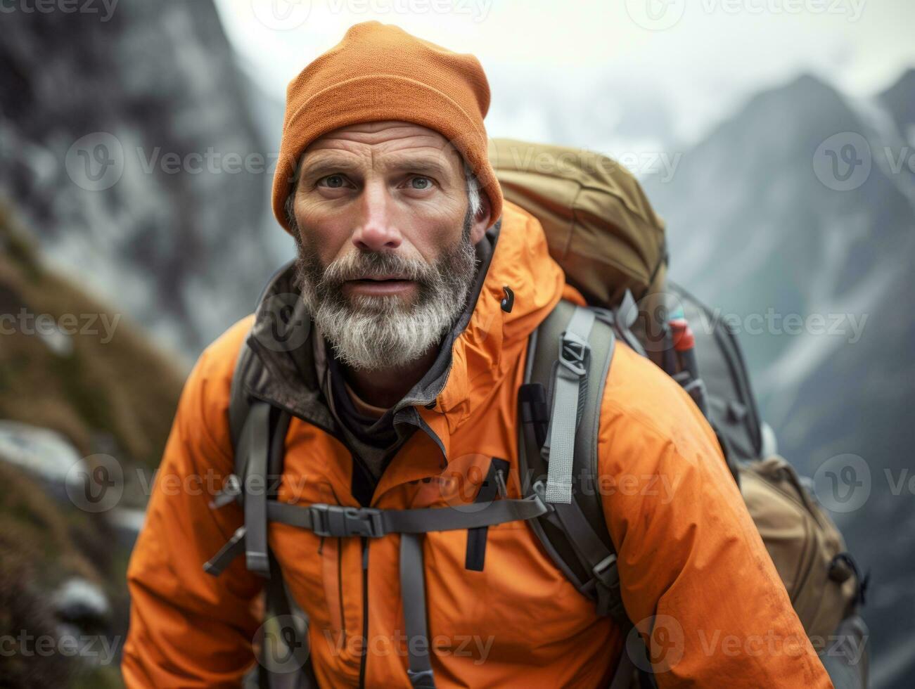
[{"label": "man's face with grey beard, below the orange beanie", "polygon": [[354,124],[302,156],[292,205],[297,283],[352,368],[415,361],[461,312],[475,272],[474,216],[461,157],[418,124]]}]

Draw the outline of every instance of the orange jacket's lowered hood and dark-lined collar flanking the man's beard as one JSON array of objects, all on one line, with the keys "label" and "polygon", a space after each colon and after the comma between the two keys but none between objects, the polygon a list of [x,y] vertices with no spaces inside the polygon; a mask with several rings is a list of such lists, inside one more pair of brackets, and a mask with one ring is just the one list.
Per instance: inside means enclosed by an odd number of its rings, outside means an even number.
[{"label": "orange jacket's lowered hood and dark-lined collar flanking the man's beard", "polygon": [[[506,203],[476,251],[479,263],[468,303],[429,371],[389,410],[395,425],[420,425],[417,407],[422,406],[443,414],[453,432],[502,382],[528,336],[563,296],[565,275],[549,255],[540,222],[520,207]],[[252,396],[339,435],[319,384],[317,328],[294,277],[295,262],[290,262],[264,289],[248,339],[263,366],[248,371],[244,384]]]}]

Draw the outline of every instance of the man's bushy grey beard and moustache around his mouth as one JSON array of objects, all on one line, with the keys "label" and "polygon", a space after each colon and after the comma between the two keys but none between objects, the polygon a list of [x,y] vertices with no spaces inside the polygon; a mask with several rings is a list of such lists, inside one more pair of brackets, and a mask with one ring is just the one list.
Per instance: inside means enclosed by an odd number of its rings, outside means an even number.
[{"label": "man's bushy grey beard and moustache around his mouth", "polygon": [[[296,285],[339,361],[359,371],[403,367],[439,343],[464,310],[476,274],[472,221],[468,210],[460,240],[434,264],[390,252],[359,251],[324,266],[313,244],[296,238]],[[342,292],[347,280],[391,273],[414,280],[415,296],[348,297]]]}]

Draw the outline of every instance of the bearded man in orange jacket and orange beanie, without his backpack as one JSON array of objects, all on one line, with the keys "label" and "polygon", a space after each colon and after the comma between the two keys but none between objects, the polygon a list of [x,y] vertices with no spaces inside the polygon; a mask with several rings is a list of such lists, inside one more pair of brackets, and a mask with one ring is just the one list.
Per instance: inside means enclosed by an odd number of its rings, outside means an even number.
[{"label": "bearded man in orange jacket and orange beanie, without his backpack", "polygon": [[[174,490],[231,473],[227,409],[246,339],[260,367],[250,392],[293,414],[279,501],[447,507],[446,479],[479,485],[493,458],[508,462],[506,497],[522,496],[527,338],[560,299],[584,300],[540,223],[503,203],[487,160],[489,102],[477,59],[377,22],[351,27],[291,82],[273,204],[298,258],[188,378],[128,572],[128,686],[232,685],[253,663],[264,580],[244,558],[219,577],[201,569],[242,511]],[[272,335],[289,294],[307,307],[297,342]],[[623,601],[652,632],[657,683],[831,686],[705,418],[624,345],[598,453]],[[410,686],[401,538],[271,523],[321,686]],[[480,570],[467,566],[466,529],[425,535],[436,686],[608,684],[624,631],[597,616],[526,522],[491,526],[487,538]]]}]

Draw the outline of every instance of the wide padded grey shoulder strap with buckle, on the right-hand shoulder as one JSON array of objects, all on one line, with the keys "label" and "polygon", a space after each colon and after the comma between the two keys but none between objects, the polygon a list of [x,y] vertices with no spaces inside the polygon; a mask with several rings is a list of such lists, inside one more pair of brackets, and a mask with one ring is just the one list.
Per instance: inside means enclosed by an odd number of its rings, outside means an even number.
[{"label": "wide padded grey shoulder strap with buckle, on the right-hand shoulder", "polygon": [[616,342],[612,321],[611,312],[560,301],[531,336],[519,391],[519,462],[525,485],[547,503],[547,513],[530,522],[547,553],[599,614],[628,626],[597,490],[597,425]]}]

